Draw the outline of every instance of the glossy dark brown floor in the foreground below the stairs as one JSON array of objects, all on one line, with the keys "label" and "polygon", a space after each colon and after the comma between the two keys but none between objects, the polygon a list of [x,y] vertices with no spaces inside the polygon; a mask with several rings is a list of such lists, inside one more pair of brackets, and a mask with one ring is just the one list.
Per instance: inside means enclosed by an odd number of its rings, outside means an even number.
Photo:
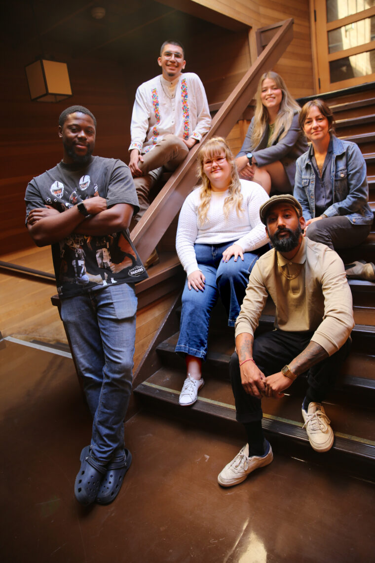
[{"label": "glossy dark brown floor in the foreground below the stairs", "polygon": [[370,562],[373,484],[277,455],[243,484],[216,476],[237,439],[138,413],[118,499],[74,499],[91,420],[70,359],[0,342],[1,561]]}]

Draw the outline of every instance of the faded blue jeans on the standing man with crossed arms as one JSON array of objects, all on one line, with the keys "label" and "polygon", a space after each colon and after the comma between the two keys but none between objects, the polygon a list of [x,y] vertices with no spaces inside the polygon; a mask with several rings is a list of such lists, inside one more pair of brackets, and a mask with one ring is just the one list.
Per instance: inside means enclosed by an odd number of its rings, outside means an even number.
[{"label": "faded blue jeans on the standing man with crossed arms", "polygon": [[93,464],[125,459],[124,418],[132,392],[137,297],[133,284],[61,300],[61,319],[93,417]]}]

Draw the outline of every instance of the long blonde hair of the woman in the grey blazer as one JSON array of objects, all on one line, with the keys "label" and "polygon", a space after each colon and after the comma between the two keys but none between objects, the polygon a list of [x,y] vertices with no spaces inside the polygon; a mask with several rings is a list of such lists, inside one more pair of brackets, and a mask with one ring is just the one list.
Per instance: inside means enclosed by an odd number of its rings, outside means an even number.
[{"label": "long blonde hair of the woman in the grey blazer", "polygon": [[272,144],[275,139],[279,136],[282,139],[288,132],[292,120],[293,115],[295,113],[300,113],[301,108],[297,104],[295,100],[293,100],[292,96],[288,92],[288,88],[286,87],[285,82],[281,78],[281,76],[272,70],[261,75],[255,100],[255,114],[254,114],[254,127],[252,129],[251,135],[251,150],[255,150],[256,147],[259,145],[261,138],[263,137],[264,131],[268,126],[268,111],[267,108],[263,105],[261,101],[261,90],[263,86],[263,81],[266,78],[272,79],[276,86],[280,88],[282,91],[282,99],[280,104],[280,109],[277,114],[277,118],[274,123],[274,130],[272,135],[270,136],[270,143]]}]

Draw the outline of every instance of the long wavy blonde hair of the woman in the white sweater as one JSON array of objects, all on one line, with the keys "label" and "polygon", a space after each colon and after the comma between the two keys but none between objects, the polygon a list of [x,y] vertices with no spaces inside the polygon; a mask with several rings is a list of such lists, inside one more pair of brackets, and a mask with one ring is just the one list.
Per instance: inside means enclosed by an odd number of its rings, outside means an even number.
[{"label": "long wavy blonde hair of the woman in the white sweater", "polygon": [[231,182],[228,186],[229,194],[225,198],[223,205],[224,216],[228,217],[229,210],[233,205],[236,207],[237,215],[240,215],[240,212],[243,211],[243,196],[241,194],[240,177],[238,176],[237,166],[234,162],[232,151],[229,149],[229,146],[222,137],[212,137],[204,146],[202,146],[198,153],[198,175],[201,179],[201,204],[198,211],[198,222],[201,225],[203,225],[206,221],[211,200],[211,183],[204,171],[204,161],[207,158],[213,159],[218,157],[218,155],[222,153],[225,154],[225,158],[231,165]]}]

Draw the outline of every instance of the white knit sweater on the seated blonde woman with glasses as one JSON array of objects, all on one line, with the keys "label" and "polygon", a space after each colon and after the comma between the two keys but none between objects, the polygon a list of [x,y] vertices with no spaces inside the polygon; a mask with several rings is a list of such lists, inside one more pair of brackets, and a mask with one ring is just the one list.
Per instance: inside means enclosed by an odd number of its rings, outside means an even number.
[{"label": "white knit sweater on the seated blonde woman with glasses", "polygon": [[176,236],[176,249],[186,275],[199,270],[194,252],[194,244],[240,245],[243,252],[250,252],[268,242],[265,227],[260,221],[259,208],[268,199],[263,187],[255,182],[240,180],[242,209],[237,215],[236,209],[224,216],[223,205],[228,196],[224,192],[211,193],[210,207],[204,225],[198,226],[198,208],[200,207],[200,188],[189,194],[183,203]]}]

